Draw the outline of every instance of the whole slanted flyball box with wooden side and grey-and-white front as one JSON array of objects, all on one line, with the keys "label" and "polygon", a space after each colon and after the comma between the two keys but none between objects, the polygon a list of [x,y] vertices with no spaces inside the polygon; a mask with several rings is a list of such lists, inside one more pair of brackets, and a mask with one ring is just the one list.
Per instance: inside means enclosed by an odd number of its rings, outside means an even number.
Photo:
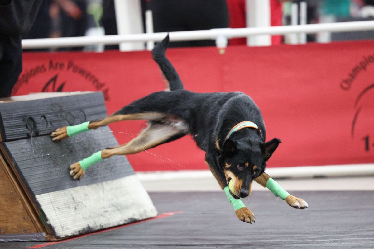
[{"label": "whole slanted flyball box with wooden side and grey-and-white front", "polygon": [[70,177],[70,164],[118,145],[108,126],[50,138],[106,115],[101,92],[0,99],[0,241],[57,240],[157,215],[125,156],[93,165],[80,181]]}]

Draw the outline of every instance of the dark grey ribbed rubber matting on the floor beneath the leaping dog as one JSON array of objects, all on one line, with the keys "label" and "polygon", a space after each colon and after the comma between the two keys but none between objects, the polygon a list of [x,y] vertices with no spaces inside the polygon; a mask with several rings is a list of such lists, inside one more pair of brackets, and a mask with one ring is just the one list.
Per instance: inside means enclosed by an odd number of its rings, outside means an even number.
[{"label": "dark grey ribbed rubber matting on the floor beneath the leaping dog", "polygon": [[[347,183],[349,184],[349,183]],[[239,221],[224,192],[151,193],[163,218],[59,243],[0,243],[0,248],[374,248],[374,192],[292,192],[296,210],[270,192],[244,200],[256,222]]]}]

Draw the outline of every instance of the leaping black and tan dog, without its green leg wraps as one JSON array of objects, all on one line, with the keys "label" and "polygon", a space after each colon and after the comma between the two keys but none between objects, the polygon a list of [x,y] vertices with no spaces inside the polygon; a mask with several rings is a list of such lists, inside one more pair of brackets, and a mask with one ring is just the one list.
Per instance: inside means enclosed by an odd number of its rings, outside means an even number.
[{"label": "leaping black and tan dog, without its green leg wraps", "polygon": [[[261,112],[246,94],[184,90],[177,72],[165,57],[168,43],[167,36],[152,54],[169,81],[170,91],[151,93],[102,120],[89,123],[89,129],[96,129],[111,122],[148,120],[148,127],[139,136],[126,144],[102,150],[101,157],[138,153],[191,134],[206,152],[205,162],[222,188],[232,179],[235,193],[246,197],[251,194],[253,180],[265,187],[269,179],[264,172],[266,162],[281,140],[273,138],[265,143]],[[243,121],[248,121],[244,123],[245,128],[241,127]],[[67,138],[66,127],[57,129],[51,136],[53,141]],[[70,169],[74,179],[80,179],[85,173],[79,162]],[[303,199],[291,195],[286,202],[294,208],[307,207]],[[246,207],[238,209],[236,215],[242,221],[254,221],[253,213]]]}]

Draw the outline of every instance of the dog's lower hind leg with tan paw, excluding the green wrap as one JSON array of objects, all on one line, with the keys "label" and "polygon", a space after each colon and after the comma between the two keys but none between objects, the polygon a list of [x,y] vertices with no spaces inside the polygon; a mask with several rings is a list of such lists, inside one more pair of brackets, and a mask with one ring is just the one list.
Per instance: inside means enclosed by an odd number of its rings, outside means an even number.
[{"label": "dog's lower hind leg with tan paw, excluding the green wrap", "polygon": [[[184,126],[171,124],[151,123],[145,128],[139,136],[121,146],[101,151],[101,158],[110,158],[113,155],[129,155],[156,147],[159,144],[166,143],[188,133]],[[70,175],[73,179],[79,180],[85,174],[79,162],[70,165]]]}]

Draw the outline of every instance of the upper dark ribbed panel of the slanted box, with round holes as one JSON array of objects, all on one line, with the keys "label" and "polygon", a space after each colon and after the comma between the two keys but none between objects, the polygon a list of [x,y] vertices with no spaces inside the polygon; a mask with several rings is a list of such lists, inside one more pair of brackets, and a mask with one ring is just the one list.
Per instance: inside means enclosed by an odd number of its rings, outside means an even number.
[{"label": "upper dark ribbed panel of the slanted box, with round holes", "polygon": [[4,102],[0,104],[0,141],[49,135],[64,125],[105,116],[107,110],[101,92]]}]

